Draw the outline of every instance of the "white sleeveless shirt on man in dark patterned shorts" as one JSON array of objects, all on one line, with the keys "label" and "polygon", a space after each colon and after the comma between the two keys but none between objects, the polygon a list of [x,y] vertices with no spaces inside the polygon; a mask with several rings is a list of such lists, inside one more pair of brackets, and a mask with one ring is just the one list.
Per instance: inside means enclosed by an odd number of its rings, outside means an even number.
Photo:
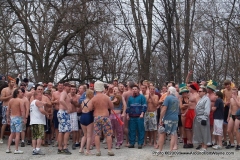
[{"label": "white sleeveless shirt on man in dark patterned shorts", "polygon": [[42,114],[36,106],[36,101],[33,100],[30,104],[30,125],[32,124],[44,124],[46,125],[45,115]]}]

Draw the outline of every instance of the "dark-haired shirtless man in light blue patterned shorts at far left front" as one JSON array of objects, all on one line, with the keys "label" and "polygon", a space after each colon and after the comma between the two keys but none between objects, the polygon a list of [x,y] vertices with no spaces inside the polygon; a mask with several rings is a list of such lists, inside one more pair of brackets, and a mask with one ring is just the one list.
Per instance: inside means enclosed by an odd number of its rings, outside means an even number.
[{"label": "dark-haired shirtless man in light blue patterned shorts at far left front", "polygon": [[[22,121],[26,124],[25,108],[22,101],[23,92],[21,89],[15,89],[13,92],[13,98],[8,103],[7,108],[7,123],[10,124],[11,134],[8,139],[8,148],[6,153],[11,153],[10,145],[12,139],[15,137],[15,151],[14,154],[22,154],[23,151],[18,150],[18,144],[20,140],[20,133],[22,132]],[[11,112],[11,113],[10,113]]]}]

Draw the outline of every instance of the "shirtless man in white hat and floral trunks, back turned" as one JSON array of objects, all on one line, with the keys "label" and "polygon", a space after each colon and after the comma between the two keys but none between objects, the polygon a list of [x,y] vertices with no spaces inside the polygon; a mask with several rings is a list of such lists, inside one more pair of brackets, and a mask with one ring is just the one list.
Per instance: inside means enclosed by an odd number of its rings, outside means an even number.
[{"label": "shirtless man in white hat and floral trunks, back turned", "polygon": [[94,83],[94,89],[96,95],[89,101],[88,109],[94,110],[94,134],[95,134],[95,145],[97,149],[96,156],[101,156],[100,151],[100,136],[103,132],[104,137],[107,137],[108,155],[114,156],[112,151],[112,125],[109,119],[109,109],[113,109],[113,103],[107,95],[103,93],[104,84],[101,81]]}]

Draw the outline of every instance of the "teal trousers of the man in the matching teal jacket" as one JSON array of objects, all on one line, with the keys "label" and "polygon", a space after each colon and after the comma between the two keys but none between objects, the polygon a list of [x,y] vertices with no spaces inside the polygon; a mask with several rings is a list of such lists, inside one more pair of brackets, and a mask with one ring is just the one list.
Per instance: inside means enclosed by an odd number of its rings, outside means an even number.
[{"label": "teal trousers of the man in the matching teal jacket", "polygon": [[138,132],[138,145],[143,145],[145,135],[144,118],[130,117],[128,121],[128,137],[131,145],[135,144],[136,131]]}]

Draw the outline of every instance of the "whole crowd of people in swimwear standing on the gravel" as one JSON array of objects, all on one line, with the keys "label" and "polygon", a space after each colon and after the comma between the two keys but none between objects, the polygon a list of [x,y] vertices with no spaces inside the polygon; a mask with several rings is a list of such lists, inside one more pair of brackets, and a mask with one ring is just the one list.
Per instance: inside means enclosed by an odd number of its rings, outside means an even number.
[{"label": "whole crowd of people in swimwear standing on the gravel", "polygon": [[[208,147],[240,150],[238,89],[229,80],[222,90],[217,85],[213,80],[170,81],[158,90],[148,80],[124,84],[114,79],[112,84],[49,82],[29,88],[27,78],[9,77],[1,87],[0,143],[10,126],[6,153],[15,145],[14,154],[23,153],[19,144],[31,144],[32,155],[44,155],[40,148],[48,145],[58,147],[57,154],[70,155],[70,137],[72,150],[79,147],[79,153],[96,156],[101,156],[100,143],[114,156],[112,147],[134,148],[136,141],[138,149],[152,146],[161,153],[166,136],[170,151],[181,143],[186,149],[197,143],[201,153]],[[96,153],[91,152],[94,146]]]}]

